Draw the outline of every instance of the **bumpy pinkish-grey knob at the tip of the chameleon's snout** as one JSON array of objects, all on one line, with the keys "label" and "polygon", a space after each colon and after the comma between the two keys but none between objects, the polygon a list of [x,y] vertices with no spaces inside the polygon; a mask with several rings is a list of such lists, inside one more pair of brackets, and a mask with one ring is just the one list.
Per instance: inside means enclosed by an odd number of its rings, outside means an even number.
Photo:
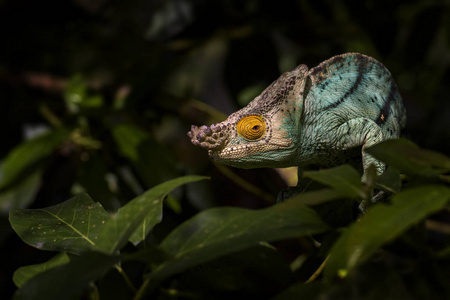
[{"label": "bumpy pinkish-grey knob at the tip of the chameleon's snout", "polygon": [[192,125],[191,131],[187,135],[192,144],[208,150],[215,150],[224,144],[226,140],[225,130],[226,125],[221,123],[200,127]]}]

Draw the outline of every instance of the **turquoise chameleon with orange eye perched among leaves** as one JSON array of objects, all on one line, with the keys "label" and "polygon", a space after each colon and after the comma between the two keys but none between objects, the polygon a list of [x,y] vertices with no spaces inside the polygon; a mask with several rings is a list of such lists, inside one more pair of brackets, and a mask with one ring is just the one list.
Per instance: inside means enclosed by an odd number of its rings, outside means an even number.
[{"label": "turquoise chameleon with orange eye perched among leaves", "polygon": [[299,65],[225,121],[192,126],[188,136],[212,160],[238,168],[332,167],[356,158],[364,181],[371,164],[378,174],[385,169],[364,149],[399,137],[405,123],[390,72],[347,53],[310,70]]}]

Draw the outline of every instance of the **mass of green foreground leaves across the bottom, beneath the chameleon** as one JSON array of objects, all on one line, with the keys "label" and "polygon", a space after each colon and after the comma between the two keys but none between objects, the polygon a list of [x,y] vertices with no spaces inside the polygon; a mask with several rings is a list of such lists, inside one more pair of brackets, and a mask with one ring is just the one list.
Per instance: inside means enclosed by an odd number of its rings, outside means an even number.
[{"label": "mass of green foreground leaves across the bottom, beneath the chameleon", "polygon": [[[368,151],[391,168],[380,178],[373,169],[367,184],[345,165],[308,171],[303,181],[314,180],[328,188],[308,188],[265,209],[204,210],[175,227],[158,245],[147,236],[164,218],[163,199],[182,184],[206,178],[186,176],[167,181],[112,215],[84,193],[47,208],[11,210],[11,225],[23,241],[41,250],[60,252],[48,262],[14,273],[14,282],[20,287],[16,298],[77,299],[87,293],[90,282],[106,281],[110,288],[110,279],[104,274],[112,269],[122,274],[135,299],[147,294],[277,299],[450,295],[450,239],[433,237],[445,236],[450,226],[437,215],[428,218],[450,208],[450,176],[444,175],[450,172],[450,158],[406,140],[388,141]],[[408,176],[404,187],[399,185],[397,170]],[[370,206],[358,218],[355,206],[361,201],[370,203],[374,188],[393,196]],[[267,242],[292,238],[302,238],[309,251],[289,265],[277,246]],[[126,248],[127,242],[137,247]],[[321,264],[314,264],[317,260]],[[129,278],[125,266],[130,263],[141,265],[133,273],[137,272],[142,282]],[[316,265],[317,270],[312,272],[308,264]],[[405,264],[419,270],[428,268],[421,275],[434,277],[432,282],[403,270]],[[324,275],[318,279],[322,269]],[[242,278],[247,272],[255,274]],[[362,289],[374,274],[382,278]],[[302,279],[306,278],[305,283]],[[380,290],[380,284],[388,284],[384,280],[395,280],[395,288]],[[408,281],[414,285],[410,287]],[[88,293],[95,298],[103,296],[93,285]]]}]

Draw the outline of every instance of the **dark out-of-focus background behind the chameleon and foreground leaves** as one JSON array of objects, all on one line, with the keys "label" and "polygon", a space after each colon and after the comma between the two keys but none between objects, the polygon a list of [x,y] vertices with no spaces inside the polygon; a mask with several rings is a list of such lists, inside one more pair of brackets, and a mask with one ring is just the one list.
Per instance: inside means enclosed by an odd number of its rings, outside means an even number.
[{"label": "dark out-of-focus background behind the chameleon and foreground leaves", "polygon": [[[89,185],[88,176],[114,174],[129,165],[116,150],[110,129],[133,124],[151,136],[141,169],[131,166],[143,189],[184,174],[212,176],[187,191],[181,213],[168,212],[174,223],[216,205],[266,206],[190,144],[190,124],[221,117],[199,103],[229,114],[280,73],[300,63],[311,68],[345,52],[381,61],[408,111],[406,137],[449,154],[448,1],[0,0],[0,157],[27,133],[54,125],[46,109],[70,128],[83,117],[102,147],[53,154],[28,206],[64,201],[74,184],[102,201],[98,197],[105,194]],[[102,104],[70,111],[65,95],[74,78],[82,78]],[[96,163],[86,163],[86,155]],[[144,174],[142,167],[150,171]],[[271,170],[233,172],[270,195],[284,186]],[[114,194],[119,203],[133,196],[125,184]],[[16,268],[52,254],[20,241],[9,227],[7,208],[1,219],[3,297],[14,291]]]}]

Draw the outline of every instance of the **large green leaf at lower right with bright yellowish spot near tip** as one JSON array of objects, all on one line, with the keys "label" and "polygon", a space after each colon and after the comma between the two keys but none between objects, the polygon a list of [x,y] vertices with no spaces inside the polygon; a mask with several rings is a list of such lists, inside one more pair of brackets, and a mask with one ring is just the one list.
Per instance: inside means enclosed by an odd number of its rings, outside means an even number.
[{"label": "large green leaf at lower right with bright yellowish spot near tip", "polygon": [[374,205],[334,244],[325,269],[326,276],[352,271],[379,247],[443,208],[449,199],[449,188],[431,185],[398,193],[392,197],[391,204]]}]

